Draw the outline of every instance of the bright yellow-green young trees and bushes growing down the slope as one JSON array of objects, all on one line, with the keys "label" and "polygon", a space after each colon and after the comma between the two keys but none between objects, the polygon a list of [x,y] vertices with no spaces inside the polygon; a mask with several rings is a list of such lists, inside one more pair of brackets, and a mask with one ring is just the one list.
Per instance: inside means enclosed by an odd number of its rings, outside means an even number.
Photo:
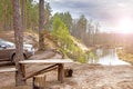
[{"label": "bright yellow-green young trees and bushes growing down the slope", "polygon": [[75,61],[86,62],[86,56],[84,51],[73,42],[73,38],[70,34],[68,27],[63,23],[60,17],[55,16],[53,18],[52,26],[52,36],[55,37],[60,50],[63,53],[65,53],[69,58],[72,58]]}]

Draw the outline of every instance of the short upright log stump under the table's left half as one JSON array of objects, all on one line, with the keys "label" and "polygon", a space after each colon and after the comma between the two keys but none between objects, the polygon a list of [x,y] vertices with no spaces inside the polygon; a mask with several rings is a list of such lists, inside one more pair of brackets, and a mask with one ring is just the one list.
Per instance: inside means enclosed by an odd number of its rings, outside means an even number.
[{"label": "short upright log stump under the table's left half", "polygon": [[32,89],[45,89],[45,75],[38,75],[33,77],[33,88]]}]

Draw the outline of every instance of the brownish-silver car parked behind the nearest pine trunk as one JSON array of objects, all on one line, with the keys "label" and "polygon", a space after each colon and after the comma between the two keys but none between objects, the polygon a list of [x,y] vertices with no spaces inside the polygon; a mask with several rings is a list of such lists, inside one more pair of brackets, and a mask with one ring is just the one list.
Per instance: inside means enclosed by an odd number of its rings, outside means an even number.
[{"label": "brownish-silver car parked behind the nearest pine trunk", "polygon": [[[34,55],[34,48],[32,44],[23,44],[24,59]],[[0,61],[11,61],[14,63],[16,58],[16,44],[10,41],[0,39]]]}]

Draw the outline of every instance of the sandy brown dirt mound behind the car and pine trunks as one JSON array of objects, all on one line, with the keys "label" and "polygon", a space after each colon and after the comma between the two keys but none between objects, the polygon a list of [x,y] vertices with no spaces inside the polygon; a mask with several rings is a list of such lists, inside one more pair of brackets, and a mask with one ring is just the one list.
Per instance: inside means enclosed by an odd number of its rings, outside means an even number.
[{"label": "sandy brown dirt mound behind the car and pine trunks", "polygon": [[[0,38],[14,42],[14,31],[1,31]],[[35,32],[24,32],[23,42],[33,44],[34,48],[38,48],[39,36]],[[54,41],[54,38],[50,34],[49,31],[44,31],[44,44],[45,49],[58,49],[58,44]]]}]

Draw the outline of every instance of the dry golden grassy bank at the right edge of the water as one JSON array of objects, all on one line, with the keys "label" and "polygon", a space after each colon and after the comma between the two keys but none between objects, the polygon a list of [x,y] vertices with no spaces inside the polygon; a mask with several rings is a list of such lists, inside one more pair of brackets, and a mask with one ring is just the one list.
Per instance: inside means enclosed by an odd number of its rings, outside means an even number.
[{"label": "dry golden grassy bank at the right edge of the water", "polygon": [[133,55],[132,53],[126,53],[124,51],[124,49],[117,49],[116,52],[121,60],[124,60],[124,61],[133,65]]}]

